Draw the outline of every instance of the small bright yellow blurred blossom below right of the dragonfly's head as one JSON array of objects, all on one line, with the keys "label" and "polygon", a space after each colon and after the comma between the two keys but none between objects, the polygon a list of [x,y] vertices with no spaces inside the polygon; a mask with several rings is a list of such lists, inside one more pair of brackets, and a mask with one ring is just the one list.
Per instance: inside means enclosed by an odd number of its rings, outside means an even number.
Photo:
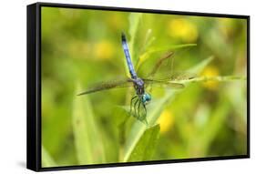
[{"label": "small bright yellow blurred blossom below right of the dragonfly's head", "polygon": [[168,109],[163,110],[159,117],[160,132],[167,132],[170,128],[172,128],[173,124],[174,117],[172,113]]}]

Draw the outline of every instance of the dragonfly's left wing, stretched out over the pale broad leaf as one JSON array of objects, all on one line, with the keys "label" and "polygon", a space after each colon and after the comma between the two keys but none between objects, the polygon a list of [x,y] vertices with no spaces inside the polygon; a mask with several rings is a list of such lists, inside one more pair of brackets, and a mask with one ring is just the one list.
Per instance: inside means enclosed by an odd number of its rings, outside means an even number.
[{"label": "dragonfly's left wing, stretched out over the pale broad leaf", "polygon": [[115,87],[132,87],[133,82],[131,79],[124,79],[124,80],[112,80],[108,82],[101,82],[95,84],[92,87],[88,87],[86,91],[77,94],[77,96],[87,95],[90,93],[98,92],[101,90],[108,90]]}]

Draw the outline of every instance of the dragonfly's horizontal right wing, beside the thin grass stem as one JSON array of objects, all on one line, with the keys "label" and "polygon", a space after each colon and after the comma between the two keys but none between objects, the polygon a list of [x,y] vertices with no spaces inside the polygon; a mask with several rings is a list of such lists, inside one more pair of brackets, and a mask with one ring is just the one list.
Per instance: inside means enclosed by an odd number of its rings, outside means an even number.
[{"label": "dragonfly's horizontal right wing, beside the thin grass stem", "polygon": [[148,85],[158,85],[160,87],[171,87],[171,88],[185,87],[183,84],[171,82],[169,80],[156,80],[156,79],[143,78],[143,81]]}]

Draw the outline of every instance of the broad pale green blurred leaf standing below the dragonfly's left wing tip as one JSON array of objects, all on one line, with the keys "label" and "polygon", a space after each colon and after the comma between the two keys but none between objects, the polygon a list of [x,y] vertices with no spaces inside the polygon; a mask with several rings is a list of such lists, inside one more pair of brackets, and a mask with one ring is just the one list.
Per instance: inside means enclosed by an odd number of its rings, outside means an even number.
[{"label": "broad pale green blurred leaf standing below the dragonfly's left wing tip", "polygon": [[[80,87],[77,87],[77,94],[79,92]],[[73,109],[73,131],[79,164],[104,163],[101,133],[88,96],[75,96]]]}]

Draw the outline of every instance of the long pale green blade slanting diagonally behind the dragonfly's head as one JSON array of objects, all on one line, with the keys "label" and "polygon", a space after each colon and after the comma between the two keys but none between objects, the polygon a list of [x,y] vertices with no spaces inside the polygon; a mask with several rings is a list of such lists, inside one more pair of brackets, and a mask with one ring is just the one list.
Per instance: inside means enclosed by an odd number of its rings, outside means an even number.
[{"label": "long pale green blade slanting diagonally behind the dragonfly's head", "polygon": [[[200,71],[206,67],[210,63],[211,58],[208,58],[202,62],[200,62],[199,65],[192,67],[190,69],[193,69],[194,74],[200,73]],[[187,86],[189,85],[189,82],[187,83]],[[150,128],[150,126],[155,125],[157,123],[157,120],[160,116],[160,113],[162,110],[170,104],[171,101],[174,100],[177,94],[179,94],[180,90],[169,90],[166,95],[159,100],[155,100],[153,103],[148,105],[148,126],[143,124],[140,121],[134,122],[132,125],[132,128],[128,134],[128,138],[124,147],[124,159],[123,161],[128,161],[132,151],[136,147],[138,140],[141,138],[141,136],[144,134],[147,128]]]}]

